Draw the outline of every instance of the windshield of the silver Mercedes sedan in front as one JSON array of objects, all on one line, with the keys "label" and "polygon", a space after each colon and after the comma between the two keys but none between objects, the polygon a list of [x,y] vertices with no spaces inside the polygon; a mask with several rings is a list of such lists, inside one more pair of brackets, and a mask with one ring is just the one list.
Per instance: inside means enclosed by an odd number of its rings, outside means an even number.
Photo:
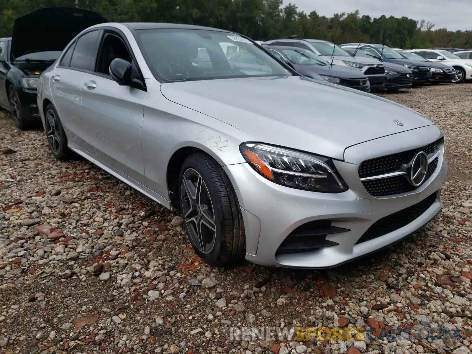
[{"label": "windshield of the silver Mercedes sedan in front", "polygon": [[237,34],[200,29],[145,29],[136,33],[154,76],[167,82],[292,75]]}]

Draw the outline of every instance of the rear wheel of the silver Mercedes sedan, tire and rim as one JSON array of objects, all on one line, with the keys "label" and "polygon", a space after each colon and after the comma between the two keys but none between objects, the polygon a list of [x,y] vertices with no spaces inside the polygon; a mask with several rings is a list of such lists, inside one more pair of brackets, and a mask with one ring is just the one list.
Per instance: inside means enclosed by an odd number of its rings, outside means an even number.
[{"label": "rear wheel of the silver Mercedes sedan, tire and rim", "polygon": [[[52,125],[52,126],[51,126]],[[70,159],[72,152],[67,147],[67,136],[54,106],[49,103],[44,110],[44,128],[49,148],[58,160]]]}]

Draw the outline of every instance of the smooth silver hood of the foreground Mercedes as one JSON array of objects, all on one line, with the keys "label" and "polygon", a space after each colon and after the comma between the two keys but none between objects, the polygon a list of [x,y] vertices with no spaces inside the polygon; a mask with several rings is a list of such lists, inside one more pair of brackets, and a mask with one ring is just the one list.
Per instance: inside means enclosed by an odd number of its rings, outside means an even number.
[{"label": "smooth silver hood of the foreground Mercedes", "polygon": [[254,141],[338,160],[349,146],[433,125],[395,102],[302,76],[187,81],[161,84],[160,90],[168,100],[234,126]]}]

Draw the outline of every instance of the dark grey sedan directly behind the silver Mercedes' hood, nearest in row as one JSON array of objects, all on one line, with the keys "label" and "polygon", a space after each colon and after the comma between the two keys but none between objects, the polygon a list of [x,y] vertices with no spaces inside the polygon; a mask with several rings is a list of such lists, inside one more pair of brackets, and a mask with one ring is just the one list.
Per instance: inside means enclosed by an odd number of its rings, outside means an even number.
[{"label": "dark grey sedan directly behind the silver Mercedes' hood, nearest in row", "polygon": [[369,92],[371,85],[369,79],[360,70],[340,65],[330,65],[312,51],[302,48],[276,46],[264,46],[264,48],[280,60],[291,65],[303,76],[318,78],[321,76],[326,81],[334,84],[351,87],[357,90]]}]

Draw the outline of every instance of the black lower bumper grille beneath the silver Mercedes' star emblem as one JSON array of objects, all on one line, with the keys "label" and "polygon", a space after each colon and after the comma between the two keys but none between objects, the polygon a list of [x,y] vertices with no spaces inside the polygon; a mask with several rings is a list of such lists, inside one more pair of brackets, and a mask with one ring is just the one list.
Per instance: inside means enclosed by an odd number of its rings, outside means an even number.
[{"label": "black lower bumper grille beneath the silver Mercedes' star emblem", "polygon": [[408,208],[387,215],[382,219],[374,222],[370,228],[361,236],[356,244],[370,241],[374,238],[387,235],[390,232],[403,228],[413,220],[419,218],[425,213],[436,200],[436,192],[426,197],[421,202],[416,203]]}]

